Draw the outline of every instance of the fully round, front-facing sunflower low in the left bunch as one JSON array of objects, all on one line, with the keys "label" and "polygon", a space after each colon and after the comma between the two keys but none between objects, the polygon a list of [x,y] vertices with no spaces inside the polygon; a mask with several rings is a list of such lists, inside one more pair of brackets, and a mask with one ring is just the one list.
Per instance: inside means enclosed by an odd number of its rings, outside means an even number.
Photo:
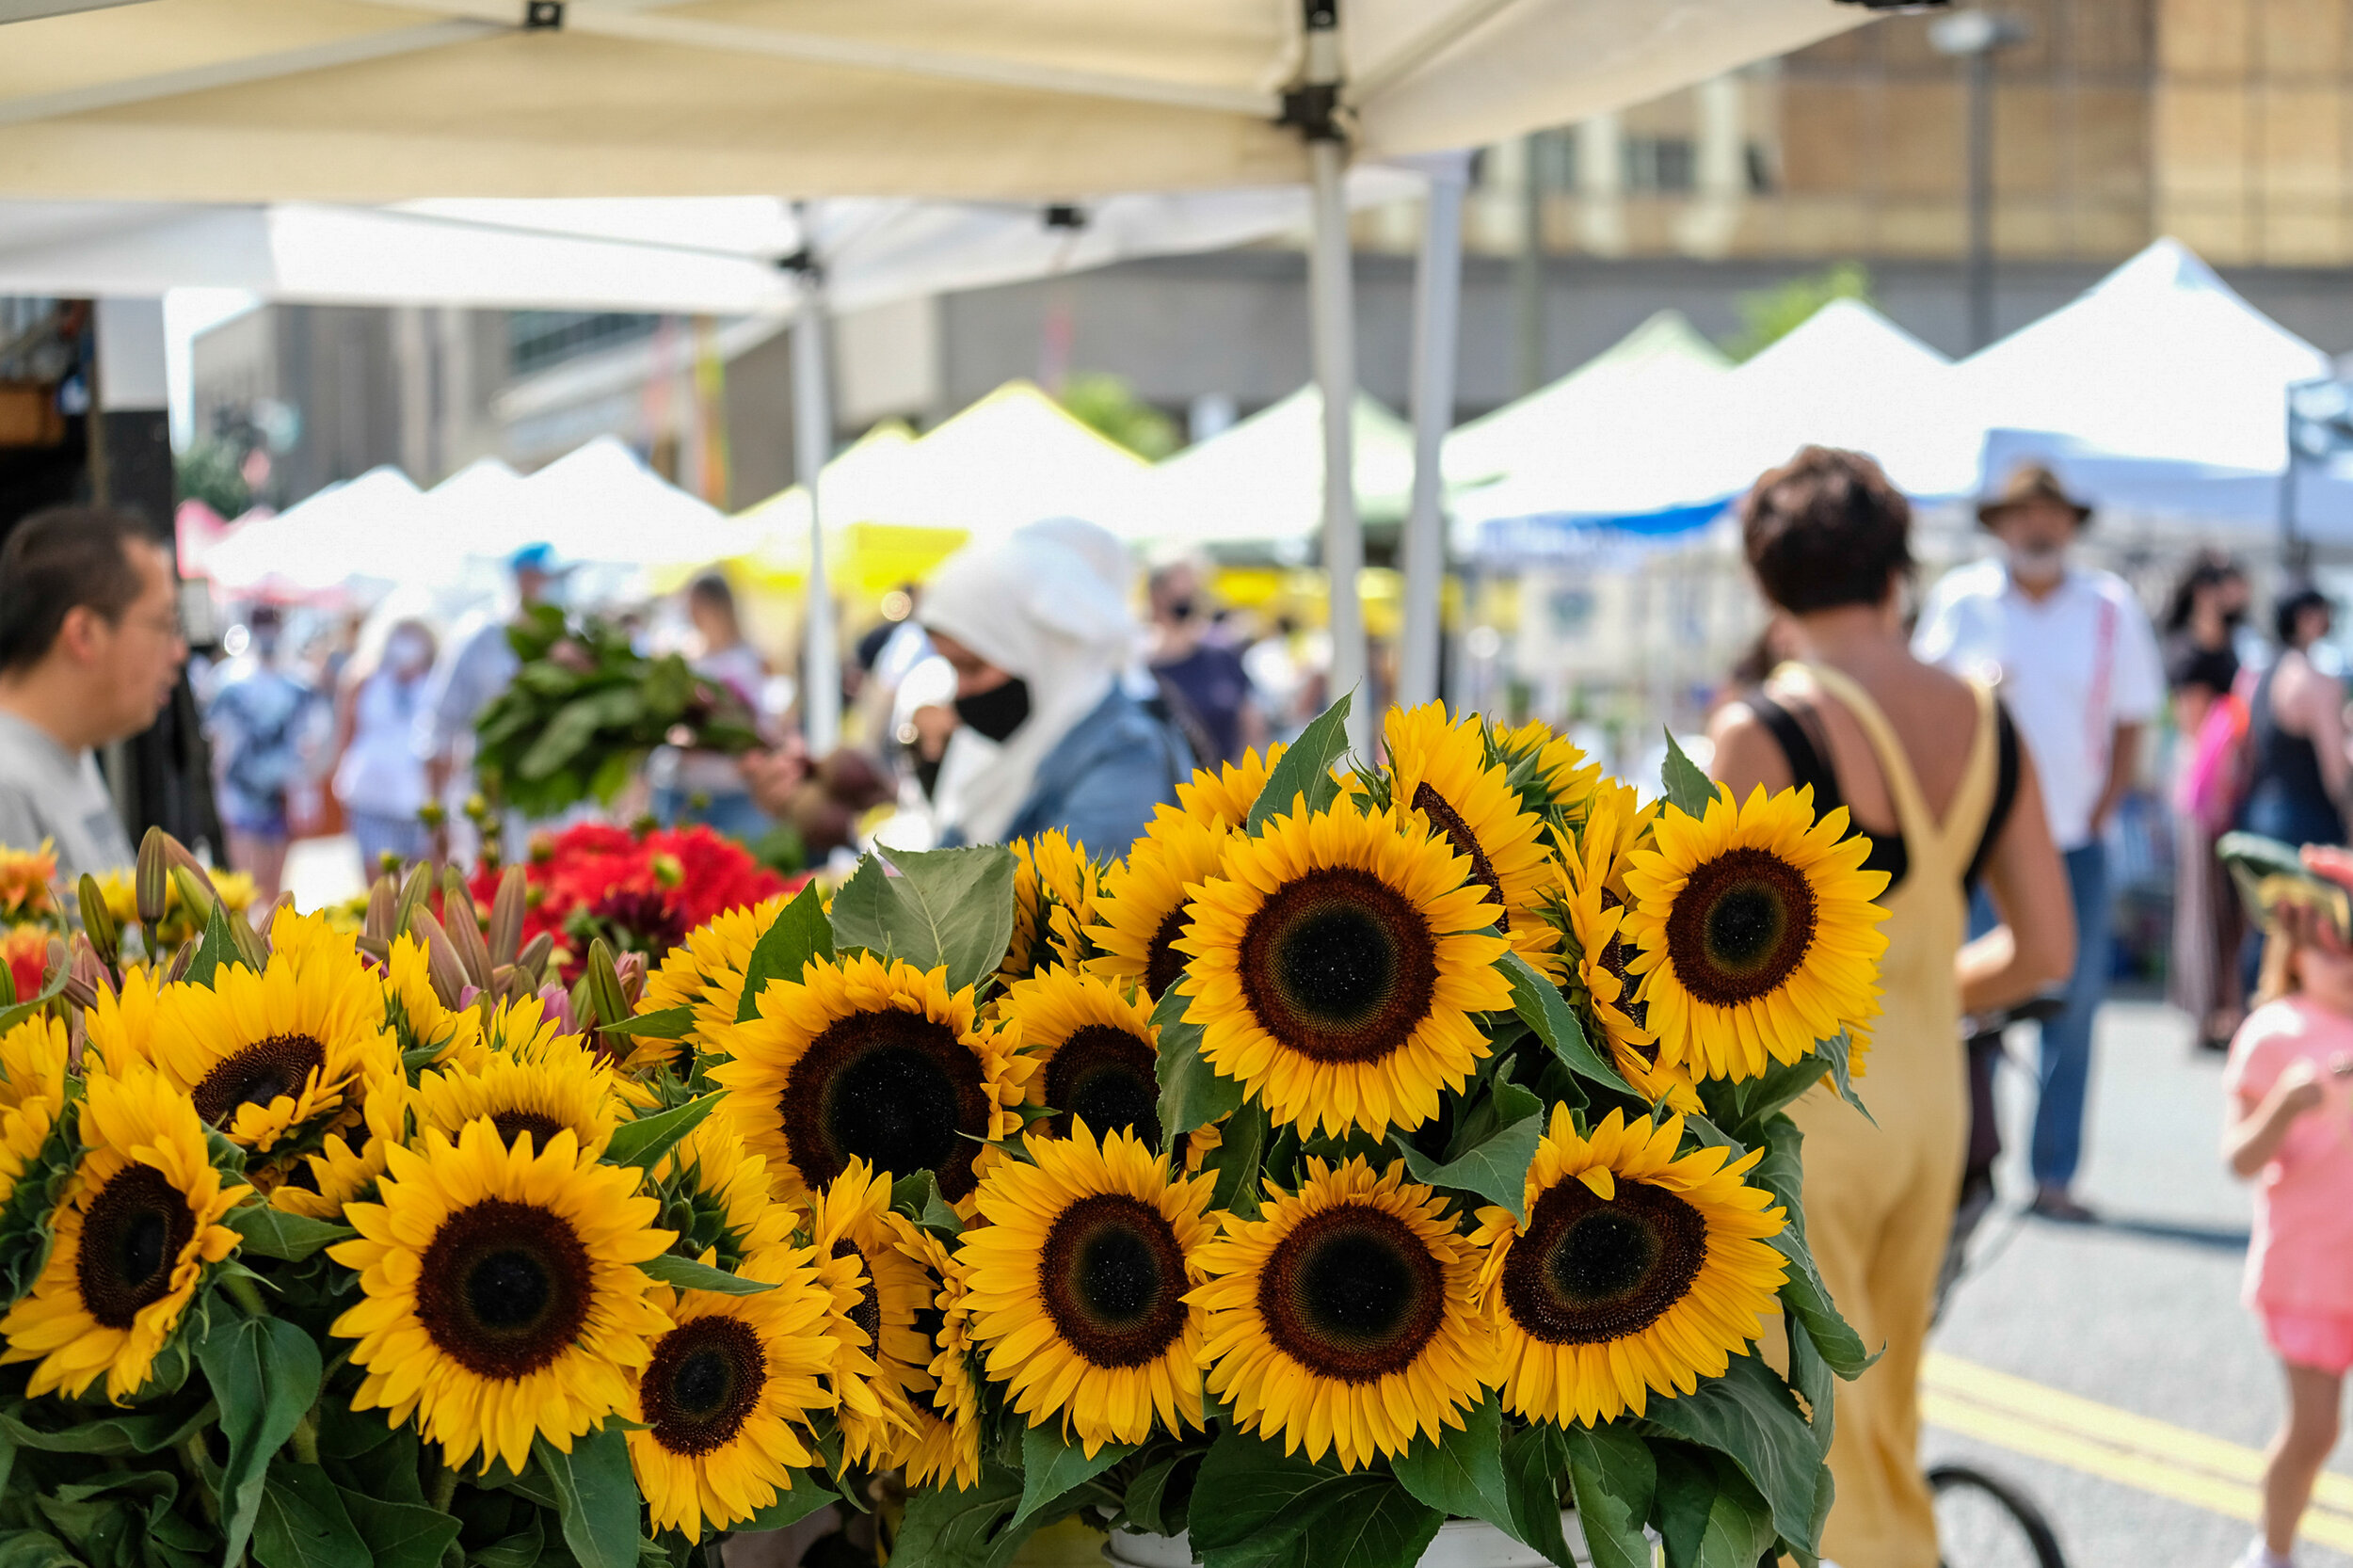
[{"label": "fully round, front-facing sunflower low in the left bunch", "polygon": [[532,1439],[572,1439],[628,1406],[628,1373],[671,1326],[638,1264],[668,1250],[642,1172],[600,1165],[565,1128],[508,1147],[489,1121],[452,1144],[386,1149],[376,1203],[351,1203],[358,1241],[327,1255],[360,1276],[329,1328],[367,1370],[353,1410],[416,1417],[456,1469],[475,1453],[522,1471]]}]

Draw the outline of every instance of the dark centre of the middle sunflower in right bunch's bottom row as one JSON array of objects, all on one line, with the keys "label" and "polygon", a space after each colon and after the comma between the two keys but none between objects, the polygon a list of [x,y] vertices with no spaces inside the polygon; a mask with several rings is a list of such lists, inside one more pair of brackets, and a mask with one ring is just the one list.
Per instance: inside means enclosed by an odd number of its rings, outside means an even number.
[{"label": "dark centre of the middle sunflower in right bunch's bottom row", "polygon": [[1318,1377],[1402,1373],[1438,1337],[1445,1274],[1405,1220],[1344,1203],[1308,1215],[1259,1274],[1266,1337]]}]

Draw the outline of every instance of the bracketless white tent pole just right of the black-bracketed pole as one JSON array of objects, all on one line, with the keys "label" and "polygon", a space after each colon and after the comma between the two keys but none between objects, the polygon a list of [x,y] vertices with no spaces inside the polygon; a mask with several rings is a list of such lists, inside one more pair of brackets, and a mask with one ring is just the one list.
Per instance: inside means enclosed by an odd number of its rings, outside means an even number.
[{"label": "bracketless white tent pole just right of the black-bracketed pole", "polygon": [[1405,631],[1398,702],[1438,699],[1438,640],[1447,574],[1440,450],[1454,424],[1454,358],[1464,285],[1464,186],[1471,160],[1431,160],[1431,195],[1414,261],[1414,506],[1405,518]]}]

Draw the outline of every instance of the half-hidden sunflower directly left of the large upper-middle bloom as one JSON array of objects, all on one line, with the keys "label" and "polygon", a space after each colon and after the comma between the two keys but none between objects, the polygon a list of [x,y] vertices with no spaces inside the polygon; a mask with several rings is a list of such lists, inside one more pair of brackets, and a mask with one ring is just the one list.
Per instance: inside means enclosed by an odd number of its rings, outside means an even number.
[{"label": "half-hidden sunflower directly left of the large upper-middle bloom", "polygon": [[1024,1055],[1038,1062],[1028,1102],[1054,1107],[1038,1132],[1071,1135],[1078,1116],[1096,1132],[1134,1132],[1160,1147],[1158,1031],[1153,1005],[1132,986],[1047,968],[1016,979],[998,1017],[1019,1029]]}]

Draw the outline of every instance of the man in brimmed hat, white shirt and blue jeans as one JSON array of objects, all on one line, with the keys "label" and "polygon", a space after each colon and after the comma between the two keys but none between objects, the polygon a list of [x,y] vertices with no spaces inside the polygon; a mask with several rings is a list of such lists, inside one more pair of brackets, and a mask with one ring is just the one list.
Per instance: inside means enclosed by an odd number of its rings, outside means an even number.
[{"label": "man in brimmed hat, white shirt and blue jeans", "polygon": [[[2092,509],[2042,464],[2026,464],[1979,504],[2000,556],[1946,572],[1927,596],[1913,647],[1951,671],[2002,685],[2042,775],[2052,843],[2075,897],[2075,975],[2066,1010],[2042,1024],[2035,1104],[2035,1212],[2089,1220],[2073,1196],[2092,1076],[2092,1017],[2108,986],[2108,859],[2101,829],[2132,786],[2141,732],[2165,697],[2165,666],[2132,589],[2068,563]],[[1991,918],[1979,913],[1979,930]],[[2000,937],[1995,937],[2000,939]]]}]

